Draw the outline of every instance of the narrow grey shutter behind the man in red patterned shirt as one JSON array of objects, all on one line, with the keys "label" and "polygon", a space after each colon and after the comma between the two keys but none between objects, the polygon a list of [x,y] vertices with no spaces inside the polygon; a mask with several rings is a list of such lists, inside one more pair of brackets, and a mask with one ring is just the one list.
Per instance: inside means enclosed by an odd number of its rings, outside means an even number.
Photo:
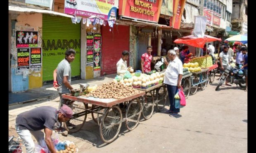
[{"label": "narrow grey shutter behind the man in red patterned shirt", "polygon": [[148,46],[148,37],[144,36],[144,35],[139,35],[138,36],[138,39],[139,39],[139,43],[138,43],[138,51],[137,51],[137,59],[136,59],[136,70],[141,70],[141,65],[140,65],[140,62],[141,62],[141,56],[142,54],[146,53],[147,52],[147,46]]}]

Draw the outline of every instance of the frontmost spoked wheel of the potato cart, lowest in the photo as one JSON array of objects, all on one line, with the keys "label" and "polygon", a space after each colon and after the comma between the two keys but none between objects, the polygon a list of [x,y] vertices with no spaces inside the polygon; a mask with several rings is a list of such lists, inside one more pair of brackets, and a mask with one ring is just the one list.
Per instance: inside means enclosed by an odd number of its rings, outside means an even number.
[{"label": "frontmost spoked wheel of the potato cart, lowest in the photo", "polygon": [[100,122],[100,137],[102,141],[110,143],[116,139],[122,125],[122,112],[118,106],[105,108]]}]

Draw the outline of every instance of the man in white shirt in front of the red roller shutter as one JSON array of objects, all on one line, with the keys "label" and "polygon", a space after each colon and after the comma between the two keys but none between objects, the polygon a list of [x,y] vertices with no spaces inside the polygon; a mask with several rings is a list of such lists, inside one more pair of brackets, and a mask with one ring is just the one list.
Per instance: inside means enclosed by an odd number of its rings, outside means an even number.
[{"label": "man in white shirt in front of the red roller shutter", "polygon": [[118,75],[123,76],[127,71],[127,61],[129,58],[129,52],[123,51],[122,58],[116,63],[116,72]]}]

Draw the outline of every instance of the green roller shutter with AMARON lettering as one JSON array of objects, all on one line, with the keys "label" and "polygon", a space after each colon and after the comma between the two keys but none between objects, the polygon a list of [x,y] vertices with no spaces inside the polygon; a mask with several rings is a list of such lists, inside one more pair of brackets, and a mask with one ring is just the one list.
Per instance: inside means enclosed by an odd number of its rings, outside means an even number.
[{"label": "green roller shutter with AMARON lettering", "polygon": [[70,18],[43,14],[43,83],[53,80],[53,71],[65,58],[66,49],[76,51],[71,63],[71,76],[79,78],[81,74],[81,24],[72,23]]}]

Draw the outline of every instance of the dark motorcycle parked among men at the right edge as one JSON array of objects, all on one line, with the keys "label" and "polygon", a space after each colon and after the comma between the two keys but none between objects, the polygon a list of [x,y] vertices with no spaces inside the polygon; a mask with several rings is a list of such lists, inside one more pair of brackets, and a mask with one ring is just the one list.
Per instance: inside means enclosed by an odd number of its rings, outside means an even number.
[{"label": "dark motorcycle parked among men at the right edge", "polygon": [[241,88],[246,87],[244,73],[237,66],[233,68],[231,65],[228,65],[224,68],[224,72],[221,74],[220,79],[218,81],[218,86],[215,89],[216,91],[226,81],[226,79],[228,79],[229,83],[235,83],[236,85],[239,85]]}]

